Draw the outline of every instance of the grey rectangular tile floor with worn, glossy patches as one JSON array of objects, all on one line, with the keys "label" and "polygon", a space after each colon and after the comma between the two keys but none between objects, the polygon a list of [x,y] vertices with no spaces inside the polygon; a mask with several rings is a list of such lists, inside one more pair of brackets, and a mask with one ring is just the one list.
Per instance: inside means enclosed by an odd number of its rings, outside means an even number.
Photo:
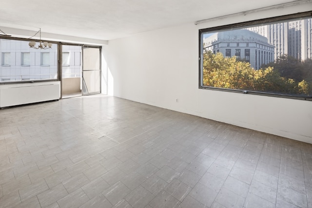
[{"label": "grey rectangular tile floor with worn, glossy patches", "polygon": [[116,97],[0,110],[0,208],[312,208],[312,145]]}]

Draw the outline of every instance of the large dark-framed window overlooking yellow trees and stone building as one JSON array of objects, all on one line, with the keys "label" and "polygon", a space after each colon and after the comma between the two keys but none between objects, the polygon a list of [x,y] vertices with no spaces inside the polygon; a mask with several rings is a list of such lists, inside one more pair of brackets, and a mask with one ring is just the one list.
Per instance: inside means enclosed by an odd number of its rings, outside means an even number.
[{"label": "large dark-framed window overlooking yellow trees and stone building", "polygon": [[201,29],[199,87],[312,100],[311,31],[311,12]]}]

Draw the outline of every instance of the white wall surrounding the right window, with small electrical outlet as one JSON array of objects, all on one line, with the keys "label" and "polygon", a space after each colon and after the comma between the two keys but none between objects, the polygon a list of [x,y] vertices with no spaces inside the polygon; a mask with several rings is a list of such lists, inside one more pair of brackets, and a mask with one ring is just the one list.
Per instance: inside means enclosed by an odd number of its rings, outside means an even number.
[{"label": "white wall surrounding the right window, with small electrical outlet", "polygon": [[198,89],[198,29],[303,12],[308,7],[189,23],[110,40],[103,46],[103,92],[312,143],[311,101]]}]

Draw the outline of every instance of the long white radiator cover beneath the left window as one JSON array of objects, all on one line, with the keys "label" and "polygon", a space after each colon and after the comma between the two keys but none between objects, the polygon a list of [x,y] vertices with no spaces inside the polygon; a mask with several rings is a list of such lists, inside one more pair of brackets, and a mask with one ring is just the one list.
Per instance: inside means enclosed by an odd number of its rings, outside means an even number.
[{"label": "long white radiator cover beneath the left window", "polygon": [[0,85],[0,108],[59,98],[60,81]]}]

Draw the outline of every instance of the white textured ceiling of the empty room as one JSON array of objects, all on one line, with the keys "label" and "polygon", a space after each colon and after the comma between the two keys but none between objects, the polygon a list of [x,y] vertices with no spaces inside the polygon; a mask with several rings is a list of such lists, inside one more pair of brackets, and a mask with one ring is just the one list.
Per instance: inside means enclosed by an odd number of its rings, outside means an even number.
[{"label": "white textured ceiling of the empty room", "polygon": [[3,0],[0,29],[110,40],[287,2],[292,0]]}]

